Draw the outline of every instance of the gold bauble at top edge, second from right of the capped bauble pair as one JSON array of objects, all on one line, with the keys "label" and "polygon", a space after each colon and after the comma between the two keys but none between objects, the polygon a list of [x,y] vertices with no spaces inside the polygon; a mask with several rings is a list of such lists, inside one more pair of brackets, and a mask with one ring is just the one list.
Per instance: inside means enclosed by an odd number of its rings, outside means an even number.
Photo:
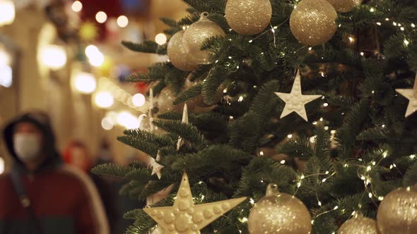
[{"label": "gold bauble at top edge, second from right of the capped bauble pair", "polygon": [[225,18],[230,27],[244,35],[255,35],[271,22],[272,6],[269,0],[228,0]]}]

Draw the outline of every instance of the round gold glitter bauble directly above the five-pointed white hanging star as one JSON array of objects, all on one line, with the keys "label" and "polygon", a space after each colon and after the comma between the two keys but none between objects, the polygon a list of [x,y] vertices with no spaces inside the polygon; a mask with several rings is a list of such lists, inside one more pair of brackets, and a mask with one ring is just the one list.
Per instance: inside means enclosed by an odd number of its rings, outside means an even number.
[{"label": "round gold glitter bauble directly above the five-pointed white hanging star", "polygon": [[299,42],[317,46],[329,41],[337,30],[337,13],[326,0],[303,0],[290,16],[291,32]]}]

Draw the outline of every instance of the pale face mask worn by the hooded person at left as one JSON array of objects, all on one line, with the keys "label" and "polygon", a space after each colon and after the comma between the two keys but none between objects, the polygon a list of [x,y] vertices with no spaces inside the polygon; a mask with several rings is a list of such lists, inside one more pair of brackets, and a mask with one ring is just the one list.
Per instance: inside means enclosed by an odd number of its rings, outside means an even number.
[{"label": "pale face mask worn by the hooded person at left", "polygon": [[35,161],[40,154],[39,136],[28,133],[17,133],[13,137],[13,147],[21,161]]}]

